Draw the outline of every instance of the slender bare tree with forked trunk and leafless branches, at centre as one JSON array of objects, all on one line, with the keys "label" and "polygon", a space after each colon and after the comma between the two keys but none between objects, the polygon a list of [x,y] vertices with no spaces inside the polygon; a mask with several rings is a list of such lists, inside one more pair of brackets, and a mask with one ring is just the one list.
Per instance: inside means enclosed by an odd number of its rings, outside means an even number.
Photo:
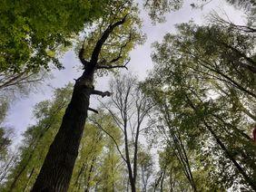
[{"label": "slender bare tree with forked trunk and leafless branches, at centre", "polygon": [[136,191],[139,137],[151,106],[139,90],[137,80],[131,75],[116,77],[110,87],[114,92],[112,101],[103,106],[112,114],[116,126],[123,133],[124,154],[118,145],[117,148],[126,164],[131,190]]}]

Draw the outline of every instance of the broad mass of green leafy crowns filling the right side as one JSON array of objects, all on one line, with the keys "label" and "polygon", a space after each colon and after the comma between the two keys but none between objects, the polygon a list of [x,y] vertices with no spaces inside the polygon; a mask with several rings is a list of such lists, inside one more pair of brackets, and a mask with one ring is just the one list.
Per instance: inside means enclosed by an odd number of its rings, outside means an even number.
[{"label": "broad mass of green leafy crowns filling the right side", "polygon": [[155,67],[143,87],[162,122],[156,127],[171,147],[173,131],[183,140],[196,183],[201,174],[211,176],[212,182],[198,187],[252,187],[255,146],[248,134],[255,120],[255,37],[215,24],[177,29],[154,43]]}]

